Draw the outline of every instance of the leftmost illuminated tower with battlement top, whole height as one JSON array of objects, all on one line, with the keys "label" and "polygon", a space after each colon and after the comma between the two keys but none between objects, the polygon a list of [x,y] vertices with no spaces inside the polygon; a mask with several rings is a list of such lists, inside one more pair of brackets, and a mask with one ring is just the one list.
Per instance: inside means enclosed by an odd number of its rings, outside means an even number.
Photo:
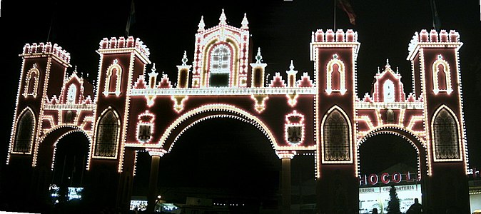
[{"label": "leftmost illuminated tower with battlement top, whole height", "polygon": [[[63,81],[55,78],[65,76],[71,67],[70,54],[57,44],[26,44],[22,54],[22,68],[16,97],[14,123],[11,129],[7,163],[11,165],[11,185],[16,186],[12,198],[24,197],[21,193],[41,189],[34,184],[34,166],[41,139],[44,138],[43,123],[45,103],[48,98],[59,94]],[[52,79],[51,79],[52,78]]]}]

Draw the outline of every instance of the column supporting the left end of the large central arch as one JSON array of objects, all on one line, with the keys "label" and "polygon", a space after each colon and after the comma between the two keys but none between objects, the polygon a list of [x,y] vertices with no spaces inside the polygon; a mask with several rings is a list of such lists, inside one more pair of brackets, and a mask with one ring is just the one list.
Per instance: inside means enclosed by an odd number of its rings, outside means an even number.
[{"label": "column supporting the left end of the large central arch", "polygon": [[167,151],[161,148],[146,148],[146,150],[148,151],[148,154],[152,156],[151,175],[148,180],[147,212],[154,213],[157,198],[158,165],[161,161],[161,157],[167,153]]}]

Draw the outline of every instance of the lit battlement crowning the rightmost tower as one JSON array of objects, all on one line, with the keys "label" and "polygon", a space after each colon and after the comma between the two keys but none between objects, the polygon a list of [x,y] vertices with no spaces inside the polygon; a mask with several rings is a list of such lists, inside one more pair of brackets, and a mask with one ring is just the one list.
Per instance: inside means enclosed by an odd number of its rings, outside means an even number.
[{"label": "lit battlement crowning the rightmost tower", "polygon": [[426,29],[422,29],[419,33],[415,32],[407,49],[409,51],[407,60],[412,60],[420,47],[440,47],[440,45],[459,49],[462,46],[460,34],[455,30],[450,30],[449,33],[446,30],[441,30],[437,33],[435,29],[430,32],[427,32]]}]

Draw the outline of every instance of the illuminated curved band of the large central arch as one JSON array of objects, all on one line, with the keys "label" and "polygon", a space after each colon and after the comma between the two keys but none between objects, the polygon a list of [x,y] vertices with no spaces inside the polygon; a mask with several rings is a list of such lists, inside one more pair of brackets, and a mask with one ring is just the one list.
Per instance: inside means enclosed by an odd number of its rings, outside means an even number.
[{"label": "illuminated curved band of the large central arch", "polygon": [[210,118],[234,118],[245,123],[250,123],[263,132],[263,134],[268,138],[268,141],[270,141],[270,144],[274,150],[278,150],[278,143],[273,133],[270,131],[268,126],[263,123],[263,121],[247,111],[243,111],[239,108],[236,108],[236,106],[226,104],[205,105],[184,113],[182,116],[177,118],[176,121],[171,123],[171,126],[169,126],[163,133],[157,146],[170,152],[173,144],[176,143],[182,133],[187,131],[188,128],[191,128],[196,123]]}]

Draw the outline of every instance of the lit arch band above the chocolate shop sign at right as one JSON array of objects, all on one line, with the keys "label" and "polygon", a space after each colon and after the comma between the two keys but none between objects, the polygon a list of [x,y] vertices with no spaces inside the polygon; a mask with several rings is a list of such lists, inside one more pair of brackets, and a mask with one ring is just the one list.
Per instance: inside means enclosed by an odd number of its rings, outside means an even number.
[{"label": "lit arch band above the chocolate shop sign at right", "polygon": [[382,126],[368,131],[356,143],[356,159],[358,160],[358,163],[356,165],[356,174],[358,176],[360,175],[359,147],[369,138],[380,134],[399,136],[409,142],[411,146],[415,148],[415,151],[417,153],[417,179],[421,180],[423,175],[430,175],[430,163],[429,161],[427,161],[427,146],[425,141],[423,141],[420,136],[417,136],[415,133],[412,133],[405,128],[400,128],[397,126]]}]

